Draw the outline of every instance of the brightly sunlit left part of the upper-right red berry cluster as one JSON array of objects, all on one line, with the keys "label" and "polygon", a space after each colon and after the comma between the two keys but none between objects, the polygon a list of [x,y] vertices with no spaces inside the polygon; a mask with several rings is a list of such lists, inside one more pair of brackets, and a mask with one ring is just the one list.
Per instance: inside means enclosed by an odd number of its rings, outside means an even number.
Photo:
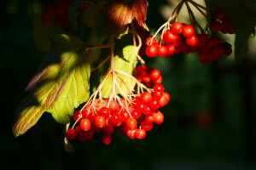
[{"label": "brightly sunlit left part of the upper-right red berry cluster", "polygon": [[154,37],[148,37],[146,54],[150,58],[156,55],[170,57],[173,54],[189,54],[190,51],[195,50],[197,42],[198,37],[195,35],[193,26],[174,22],[171,29],[163,33],[160,41],[157,42]]}]

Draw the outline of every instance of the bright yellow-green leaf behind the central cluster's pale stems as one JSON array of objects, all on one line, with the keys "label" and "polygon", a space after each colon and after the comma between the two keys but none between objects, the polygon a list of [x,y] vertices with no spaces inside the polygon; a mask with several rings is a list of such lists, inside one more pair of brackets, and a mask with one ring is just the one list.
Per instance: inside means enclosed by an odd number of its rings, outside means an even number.
[{"label": "bright yellow-green leaf behind the central cluster's pale stems", "polygon": [[[132,75],[132,72],[134,71],[136,65],[137,65],[137,54],[139,49],[135,46],[126,46],[122,49],[122,51],[114,56],[114,68],[116,70],[125,71],[126,73]],[[135,86],[134,80],[131,79],[131,77],[127,77],[125,75],[119,74],[119,76],[123,79],[123,81],[126,83],[126,85],[133,89]],[[121,88],[122,92],[124,94],[129,93],[129,89],[126,88],[126,85],[124,82],[121,81],[121,79],[118,76],[115,76],[116,81],[119,84],[119,87]],[[112,75],[109,75],[104,82],[104,85],[102,86],[102,97],[103,98],[109,98],[112,94]],[[115,86],[116,94],[124,95],[120,92],[119,88]]]}]

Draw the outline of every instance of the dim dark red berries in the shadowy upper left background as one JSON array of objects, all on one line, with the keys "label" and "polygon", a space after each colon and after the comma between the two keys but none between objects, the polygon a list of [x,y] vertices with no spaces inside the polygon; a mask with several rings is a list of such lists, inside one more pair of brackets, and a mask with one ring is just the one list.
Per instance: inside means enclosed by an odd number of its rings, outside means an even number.
[{"label": "dim dark red berries in the shadowy upper left background", "polygon": [[64,31],[69,31],[71,28],[67,14],[69,4],[69,0],[61,0],[56,6],[48,5],[42,14],[42,23],[44,26],[49,26],[54,23],[55,26],[61,26]]}]

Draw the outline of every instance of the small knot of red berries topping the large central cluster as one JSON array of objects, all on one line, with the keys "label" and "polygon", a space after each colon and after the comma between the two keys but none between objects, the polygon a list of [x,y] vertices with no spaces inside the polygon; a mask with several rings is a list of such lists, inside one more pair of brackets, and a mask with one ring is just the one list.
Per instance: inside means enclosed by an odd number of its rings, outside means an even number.
[{"label": "small knot of red berries topping the large central cluster", "polygon": [[137,80],[148,87],[151,87],[153,84],[160,84],[163,80],[160,71],[155,70],[152,67],[140,65],[136,68],[136,71]]}]

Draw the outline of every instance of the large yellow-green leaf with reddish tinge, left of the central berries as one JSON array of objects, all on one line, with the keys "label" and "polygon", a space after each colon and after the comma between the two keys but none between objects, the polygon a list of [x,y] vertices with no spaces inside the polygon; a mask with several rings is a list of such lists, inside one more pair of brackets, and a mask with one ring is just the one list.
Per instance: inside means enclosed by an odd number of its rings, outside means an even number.
[{"label": "large yellow-green leaf with reddish tinge, left of the central berries", "polygon": [[84,42],[61,35],[29,83],[30,91],[16,111],[15,136],[26,133],[47,111],[56,122],[67,123],[74,108],[90,94],[90,64],[85,58]]}]

